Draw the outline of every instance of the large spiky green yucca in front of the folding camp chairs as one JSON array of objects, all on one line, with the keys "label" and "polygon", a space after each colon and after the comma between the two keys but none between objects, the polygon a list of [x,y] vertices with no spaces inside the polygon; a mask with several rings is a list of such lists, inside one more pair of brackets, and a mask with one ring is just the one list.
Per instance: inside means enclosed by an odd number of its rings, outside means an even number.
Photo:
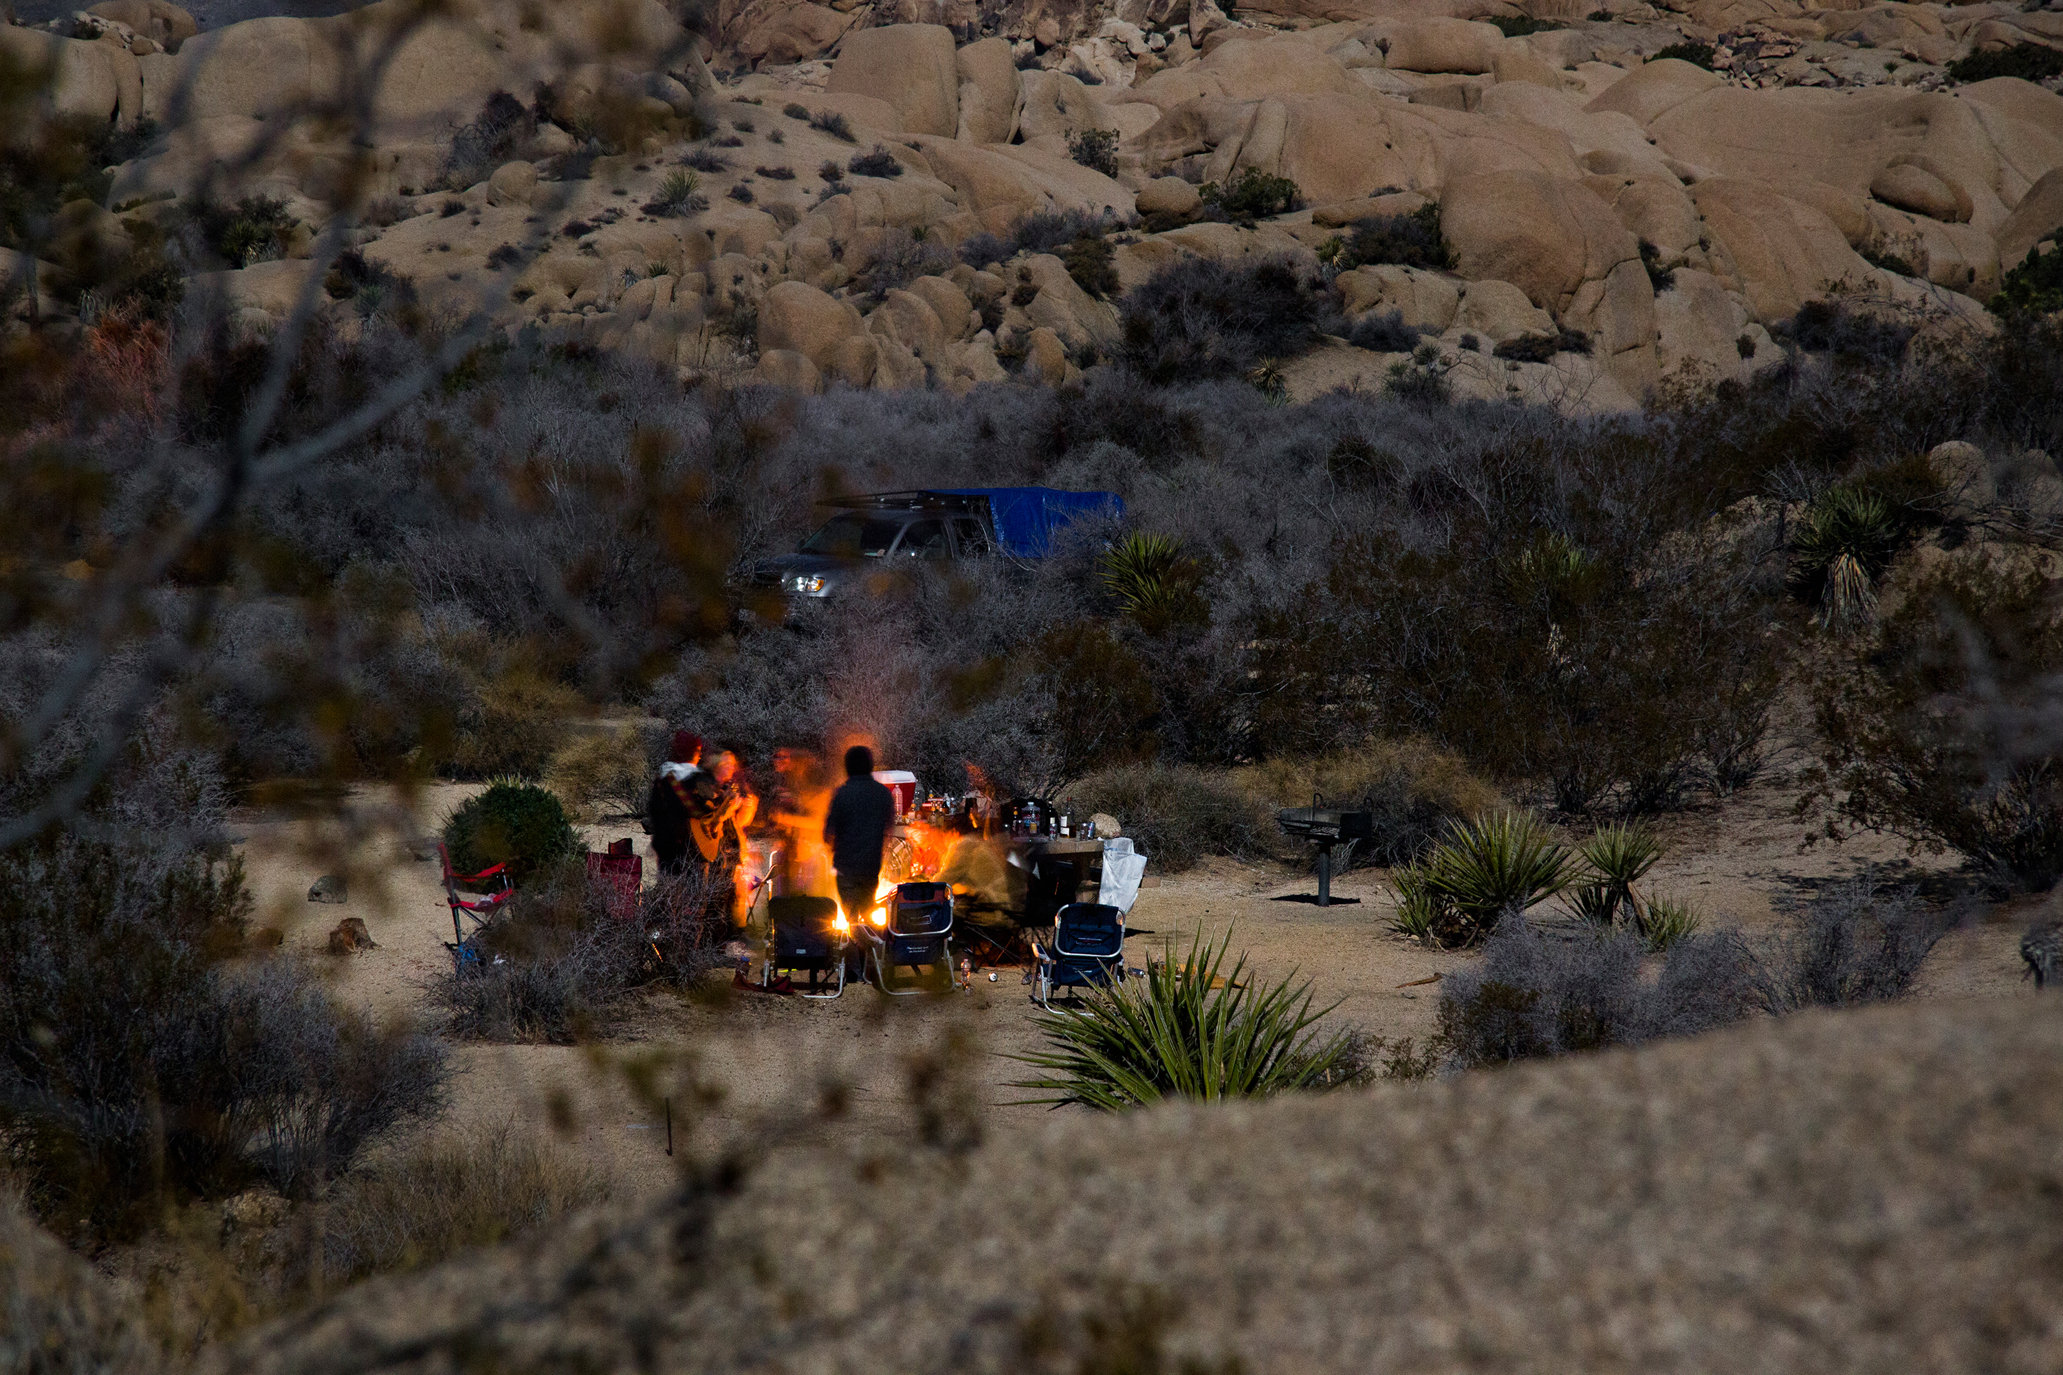
[{"label": "large spiky green yucca in front of the folding camp chairs", "polygon": [[[1170,952],[1172,954],[1172,952]],[[1335,1088],[1362,1078],[1351,1031],[1316,1029],[1333,1006],[1312,1010],[1310,983],[1258,983],[1246,959],[1225,971],[1225,948],[1201,936],[1188,959],[1168,959],[1145,979],[1083,996],[1083,1008],[1044,1027],[1046,1049],[1017,1055],[1044,1070],[1013,1088],[1042,1091],[1027,1103],[1079,1103],[1102,1111],[1161,1099],[1244,1099],[1289,1088]]]}]

